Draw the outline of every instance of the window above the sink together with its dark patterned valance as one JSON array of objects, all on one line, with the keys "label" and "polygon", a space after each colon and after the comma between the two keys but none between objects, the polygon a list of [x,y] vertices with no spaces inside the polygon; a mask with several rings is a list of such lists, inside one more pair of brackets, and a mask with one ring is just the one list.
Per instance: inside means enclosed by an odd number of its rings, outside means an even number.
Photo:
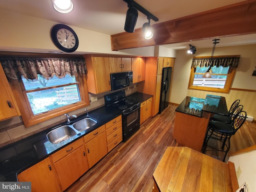
[{"label": "window above the sink together with its dark patterned valance", "polygon": [[0,56],[0,63],[26,127],[90,105],[82,56]]}]

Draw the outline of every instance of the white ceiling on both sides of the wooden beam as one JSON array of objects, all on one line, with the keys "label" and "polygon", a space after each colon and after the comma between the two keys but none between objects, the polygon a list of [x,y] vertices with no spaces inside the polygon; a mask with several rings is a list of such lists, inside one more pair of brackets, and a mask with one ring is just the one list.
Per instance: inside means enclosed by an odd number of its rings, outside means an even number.
[{"label": "white ceiling on both sides of the wooden beam", "polygon": [[[55,11],[52,1],[1,0],[0,7],[104,34],[112,35],[124,32],[124,22],[128,6],[123,0],[72,0],[74,9],[67,14]],[[135,0],[135,2],[159,19],[158,22],[151,20],[150,24],[173,20],[242,1],[244,0]],[[146,16],[139,12],[136,28],[141,28],[143,23],[147,21]],[[212,40],[194,41],[190,43],[197,48],[212,47]],[[190,43],[185,42],[165,46],[174,49],[184,49],[188,48],[188,44]],[[256,43],[256,34],[239,37],[222,37],[220,46],[252,43]]]}]

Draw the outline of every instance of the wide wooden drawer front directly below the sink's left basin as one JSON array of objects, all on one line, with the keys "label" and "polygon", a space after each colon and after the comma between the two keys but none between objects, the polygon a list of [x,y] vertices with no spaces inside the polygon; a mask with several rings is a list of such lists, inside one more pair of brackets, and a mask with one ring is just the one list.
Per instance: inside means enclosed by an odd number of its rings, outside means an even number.
[{"label": "wide wooden drawer front directly below the sink's left basin", "polygon": [[60,160],[67,154],[73,152],[74,150],[76,150],[77,148],[82,146],[83,144],[84,144],[84,141],[82,139],[79,139],[79,140],[73,142],[72,144],[69,144],[68,146],[64,147],[63,149],[55,152],[54,154],[52,154],[53,162],[55,163],[56,161]]}]

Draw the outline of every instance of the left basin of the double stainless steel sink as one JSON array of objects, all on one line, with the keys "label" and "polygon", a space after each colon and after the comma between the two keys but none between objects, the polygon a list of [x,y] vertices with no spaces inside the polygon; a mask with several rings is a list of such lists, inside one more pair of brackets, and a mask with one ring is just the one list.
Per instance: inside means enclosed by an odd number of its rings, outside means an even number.
[{"label": "left basin of the double stainless steel sink", "polygon": [[71,138],[76,134],[77,133],[70,126],[65,125],[48,132],[46,136],[51,143],[57,144]]}]

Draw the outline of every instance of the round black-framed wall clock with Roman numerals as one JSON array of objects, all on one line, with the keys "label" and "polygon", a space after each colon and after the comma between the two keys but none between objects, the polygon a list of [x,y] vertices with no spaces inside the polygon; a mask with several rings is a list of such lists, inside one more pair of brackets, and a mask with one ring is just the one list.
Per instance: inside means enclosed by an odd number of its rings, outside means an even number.
[{"label": "round black-framed wall clock with Roman numerals", "polygon": [[52,27],[51,38],[53,43],[64,52],[74,52],[78,48],[78,37],[74,30],[64,24]]}]

